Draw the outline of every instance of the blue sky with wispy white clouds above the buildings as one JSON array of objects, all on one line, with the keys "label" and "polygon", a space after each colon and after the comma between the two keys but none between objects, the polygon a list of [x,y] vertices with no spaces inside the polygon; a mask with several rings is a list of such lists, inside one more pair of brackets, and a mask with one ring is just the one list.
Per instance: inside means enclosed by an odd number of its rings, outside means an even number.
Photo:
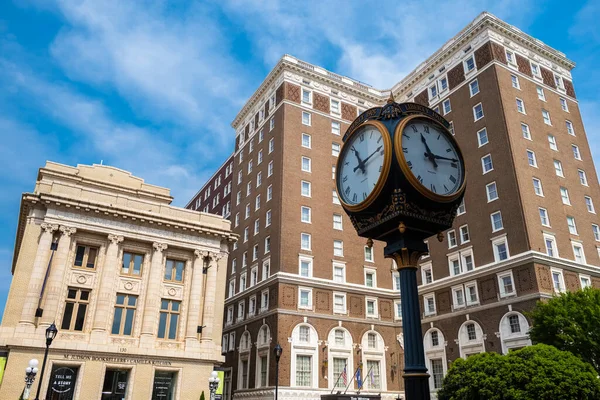
[{"label": "blue sky with wispy white clouds above the buildings", "polygon": [[0,309],[20,196],[46,160],[102,160],[183,206],[232,150],[230,122],[283,54],[389,88],[484,10],[577,63],[600,157],[598,1],[0,2]]}]

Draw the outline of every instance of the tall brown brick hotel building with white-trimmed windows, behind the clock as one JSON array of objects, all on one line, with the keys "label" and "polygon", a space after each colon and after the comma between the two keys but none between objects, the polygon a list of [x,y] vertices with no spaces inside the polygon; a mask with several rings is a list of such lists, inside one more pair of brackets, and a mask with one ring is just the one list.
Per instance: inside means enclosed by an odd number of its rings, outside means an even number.
[{"label": "tall brown brick hotel building with white-trimmed windows, behind the clock", "polygon": [[[600,188],[573,67],[482,13],[391,89],[451,122],[468,174],[453,228],[421,260],[433,391],[458,357],[530,344],[525,312],[537,300],[600,287]],[[344,367],[351,377],[359,365],[371,371],[363,393],[402,393],[397,273],[382,243],[369,250],[357,237],[333,179],[343,133],[388,96],[282,57],[233,121],[223,172],[188,204],[230,215],[240,236],[227,272],[226,398],[272,396],[276,343],[281,399],[340,390]]]}]

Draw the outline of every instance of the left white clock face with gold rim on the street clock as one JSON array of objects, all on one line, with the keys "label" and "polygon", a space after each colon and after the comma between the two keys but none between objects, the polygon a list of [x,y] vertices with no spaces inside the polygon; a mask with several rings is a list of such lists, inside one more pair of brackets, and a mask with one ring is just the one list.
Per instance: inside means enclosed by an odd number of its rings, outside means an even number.
[{"label": "left white clock face with gold rim on the street clock", "polygon": [[[337,168],[337,189],[347,206],[370,204],[389,172],[391,140],[375,123],[359,127],[344,143]],[[386,157],[386,155],[388,155]]]}]

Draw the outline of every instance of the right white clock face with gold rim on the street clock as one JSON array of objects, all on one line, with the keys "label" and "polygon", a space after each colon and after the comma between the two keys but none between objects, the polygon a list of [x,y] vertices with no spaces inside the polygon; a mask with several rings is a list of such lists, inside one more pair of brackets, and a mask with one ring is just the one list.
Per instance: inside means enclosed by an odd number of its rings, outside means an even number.
[{"label": "right white clock face with gold rim on the street clock", "polygon": [[459,192],[465,169],[460,150],[447,130],[423,117],[413,118],[401,128],[402,156],[415,178],[411,180],[438,196]]}]

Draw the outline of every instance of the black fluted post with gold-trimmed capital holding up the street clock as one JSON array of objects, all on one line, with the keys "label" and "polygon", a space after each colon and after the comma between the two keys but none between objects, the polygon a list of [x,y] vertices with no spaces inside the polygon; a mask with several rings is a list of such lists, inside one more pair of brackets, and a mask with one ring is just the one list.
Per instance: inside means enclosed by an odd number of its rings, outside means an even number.
[{"label": "black fluted post with gold-trimmed capital holding up the street clock", "polygon": [[400,273],[402,331],[404,334],[404,393],[406,400],[429,400],[429,374],[425,366],[421,311],[417,289],[419,258],[427,253],[422,241],[403,237],[388,241],[384,255],[396,261]]}]

